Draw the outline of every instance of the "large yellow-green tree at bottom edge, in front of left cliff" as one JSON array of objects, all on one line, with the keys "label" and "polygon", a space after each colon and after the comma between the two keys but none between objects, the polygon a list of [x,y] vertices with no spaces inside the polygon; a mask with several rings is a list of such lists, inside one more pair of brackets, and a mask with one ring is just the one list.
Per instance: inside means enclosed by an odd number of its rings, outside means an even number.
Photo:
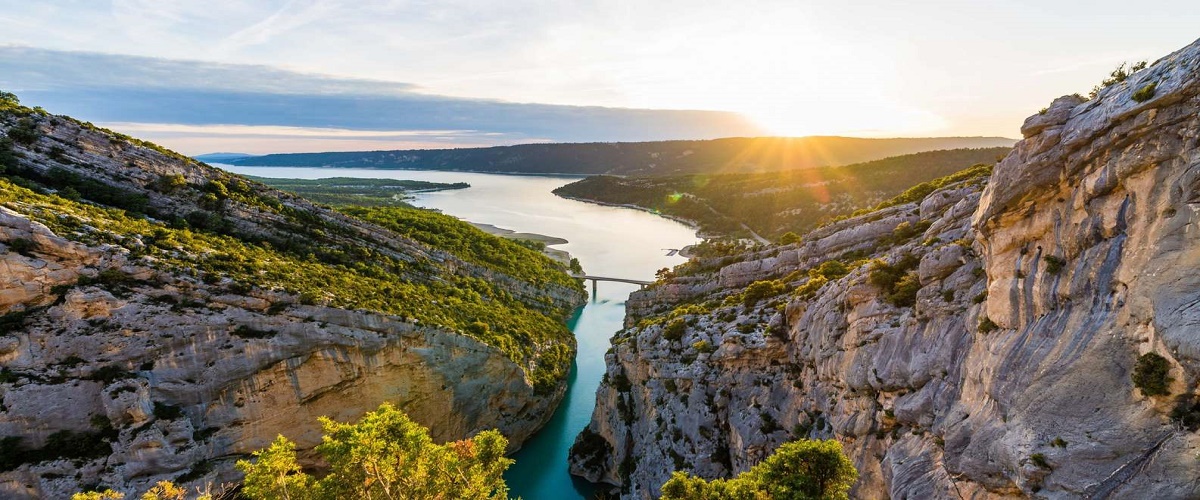
[{"label": "large yellow-green tree at bottom edge, in front of left cliff", "polygon": [[295,462],[295,445],[280,436],[256,460],[240,460],[242,494],[251,499],[506,499],[508,440],[496,430],[445,445],[391,404],[358,423],[322,417],[317,452],[329,474],[316,480]]}]

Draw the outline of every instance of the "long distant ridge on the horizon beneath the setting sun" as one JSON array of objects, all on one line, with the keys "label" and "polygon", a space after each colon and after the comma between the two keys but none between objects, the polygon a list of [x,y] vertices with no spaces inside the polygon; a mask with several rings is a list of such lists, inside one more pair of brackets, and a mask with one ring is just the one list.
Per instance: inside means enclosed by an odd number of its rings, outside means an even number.
[{"label": "long distant ridge on the horizon beneath the setting sun", "polygon": [[806,169],[964,147],[1008,147],[1001,137],[862,139],[850,137],[728,138],[654,143],[524,144],[516,146],[265,155],[229,163],[474,170],[526,174],[679,175]]}]

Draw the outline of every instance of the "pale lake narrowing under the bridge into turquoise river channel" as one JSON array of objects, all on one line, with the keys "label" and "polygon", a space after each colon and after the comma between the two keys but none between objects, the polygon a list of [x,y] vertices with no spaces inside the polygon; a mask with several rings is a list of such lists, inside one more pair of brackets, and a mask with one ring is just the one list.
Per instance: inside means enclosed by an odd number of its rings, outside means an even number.
[{"label": "pale lake narrowing under the bridge into turquoise river channel", "polygon": [[[470,222],[493,224],[521,233],[539,233],[570,241],[554,248],[580,259],[588,275],[654,279],[654,271],[682,264],[666,257],[665,248],[696,243],[688,227],[631,209],[590,205],[558,198],[556,187],[577,177],[494,175],[428,170],[322,169],[288,167],[218,165],[229,171],[263,177],[412,179],[433,182],[467,182],[470,188],[419,194],[413,203],[438,209]],[[526,500],[592,498],[593,488],[566,472],[566,452],[575,435],[587,426],[595,408],[595,391],[604,376],[604,353],[608,338],[620,330],[625,299],[636,285],[600,283],[572,319],[578,339],[570,387],[550,423],[514,456],[505,474],[512,496]],[[588,290],[590,293],[590,289]]]}]

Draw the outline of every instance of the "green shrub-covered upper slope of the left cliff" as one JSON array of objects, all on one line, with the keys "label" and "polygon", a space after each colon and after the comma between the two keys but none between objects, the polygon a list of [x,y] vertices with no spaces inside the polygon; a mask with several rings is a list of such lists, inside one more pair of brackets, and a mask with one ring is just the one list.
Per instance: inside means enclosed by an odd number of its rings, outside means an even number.
[{"label": "green shrub-covered upper slope of the left cliff", "polygon": [[[208,180],[173,173],[148,185],[109,182],[90,175],[104,169],[88,164],[80,145],[49,133],[73,125],[118,149],[166,151],[5,97],[0,204],[60,236],[124,247],[188,279],[469,335],[524,367],[539,391],[565,378],[574,338],[564,320],[582,285],[539,252],[407,206],[347,209],[359,218],[347,217],[169,151],[167,163],[179,162],[172,168]],[[145,175],[140,161],[127,165]]]}]

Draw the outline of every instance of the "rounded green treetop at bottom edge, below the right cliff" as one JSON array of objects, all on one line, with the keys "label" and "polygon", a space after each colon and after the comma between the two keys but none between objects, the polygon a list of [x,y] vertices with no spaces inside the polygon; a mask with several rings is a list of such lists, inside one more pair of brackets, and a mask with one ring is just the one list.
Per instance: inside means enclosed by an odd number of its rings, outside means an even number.
[{"label": "rounded green treetop at bottom edge, below the right cliff", "polygon": [[662,500],[847,499],[858,471],[835,440],[787,442],[732,480],[704,481],[674,472]]}]

